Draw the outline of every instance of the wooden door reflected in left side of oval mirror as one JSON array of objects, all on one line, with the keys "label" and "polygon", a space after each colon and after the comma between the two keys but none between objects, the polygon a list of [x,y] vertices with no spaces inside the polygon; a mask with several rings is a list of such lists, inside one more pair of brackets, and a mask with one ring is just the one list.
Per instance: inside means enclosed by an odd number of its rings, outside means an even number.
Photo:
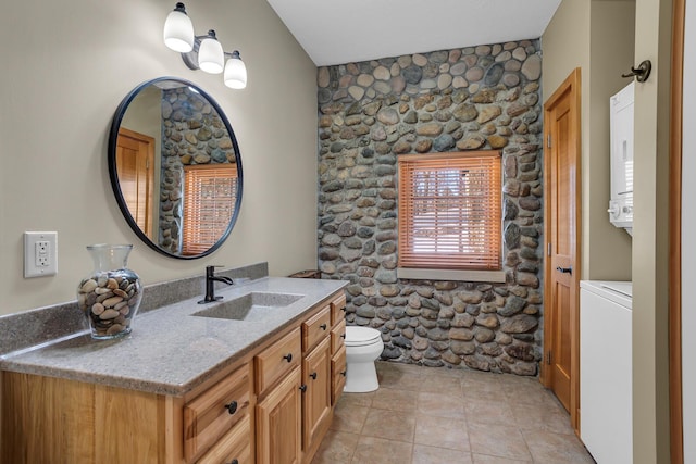
[{"label": "wooden door reflected in left side of oval mirror", "polygon": [[116,142],[116,172],[121,193],[140,230],[152,237],[154,139],[121,128]]}]

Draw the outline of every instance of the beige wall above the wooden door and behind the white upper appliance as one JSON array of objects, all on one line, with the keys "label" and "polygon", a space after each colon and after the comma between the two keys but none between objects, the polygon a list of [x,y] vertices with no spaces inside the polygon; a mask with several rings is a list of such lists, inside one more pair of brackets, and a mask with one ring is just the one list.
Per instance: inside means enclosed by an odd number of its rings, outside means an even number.
[{"label": "beige wall above the wooden door and behind the white upper appliance", "polygon": [[629,84],[634,0],[564,0],[542,36],[544,100],[575,68],[582,90],[581,278],[631,279],[631,237],[609,222],[609,97]]}]

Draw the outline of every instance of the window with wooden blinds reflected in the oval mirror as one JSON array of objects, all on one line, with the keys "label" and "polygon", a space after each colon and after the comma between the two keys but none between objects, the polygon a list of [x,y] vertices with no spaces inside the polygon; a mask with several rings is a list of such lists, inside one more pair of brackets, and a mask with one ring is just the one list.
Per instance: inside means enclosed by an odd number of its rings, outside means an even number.
[{"label": "window with wooden blinds reflected in the oval mirror", "polygon": [[229,226],[236,200],[236,164],[184,166],[182,253],[204,253],[215,244]]}]

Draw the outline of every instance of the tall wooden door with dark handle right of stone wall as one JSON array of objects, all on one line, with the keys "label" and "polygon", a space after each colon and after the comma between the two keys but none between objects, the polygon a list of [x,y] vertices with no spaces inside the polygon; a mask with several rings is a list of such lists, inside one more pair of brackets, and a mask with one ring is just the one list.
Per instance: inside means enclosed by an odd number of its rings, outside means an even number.
[{"label": "tall wooden door with dark handle right of stone wall", "polygon": [[545,323],[543,381],[570,412],[580,407],[580,68],[544,105]]}]

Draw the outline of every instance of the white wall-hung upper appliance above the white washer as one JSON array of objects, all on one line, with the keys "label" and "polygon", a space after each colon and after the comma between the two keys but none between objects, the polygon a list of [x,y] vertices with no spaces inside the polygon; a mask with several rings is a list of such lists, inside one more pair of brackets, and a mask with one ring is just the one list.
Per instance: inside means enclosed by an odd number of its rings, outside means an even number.
[{"label": "white wall-hung upper appliance above the white washer", "polygon": [[633,101],[635,83],[609,99],[611,198],[609,221],[633,233]]}]

